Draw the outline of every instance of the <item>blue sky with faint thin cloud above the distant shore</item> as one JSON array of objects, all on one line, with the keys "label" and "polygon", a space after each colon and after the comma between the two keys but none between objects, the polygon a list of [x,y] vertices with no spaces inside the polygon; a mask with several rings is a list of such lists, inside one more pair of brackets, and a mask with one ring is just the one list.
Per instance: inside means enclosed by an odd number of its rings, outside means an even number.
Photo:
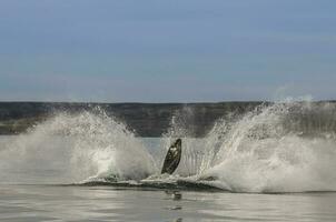
[{"label": "blue sky with faint thin cloud above the distant shore", "polygon": [[335,0],[0,0],[0,101],[336,99]]}]

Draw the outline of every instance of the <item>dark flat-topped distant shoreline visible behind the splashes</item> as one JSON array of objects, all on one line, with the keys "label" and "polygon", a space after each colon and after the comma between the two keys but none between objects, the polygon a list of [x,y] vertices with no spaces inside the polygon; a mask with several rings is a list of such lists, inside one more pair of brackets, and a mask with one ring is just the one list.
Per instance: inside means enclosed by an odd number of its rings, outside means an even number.
[{"label": "dark flat-topped distant shoreline visible behind the splashes", "polygon": [[[314,101],[335,102],[329,101]],[[0,134],[19,134],[59,112],[79,113],[101,108],[138,137],[160,137],[176,114],[188,115],[190,137],[204,137],[214,122],[230,112],[245,113],[268,101],[141,103],[141,102],[0,102]],[[184,113],[189,112],[189,113]]]}]

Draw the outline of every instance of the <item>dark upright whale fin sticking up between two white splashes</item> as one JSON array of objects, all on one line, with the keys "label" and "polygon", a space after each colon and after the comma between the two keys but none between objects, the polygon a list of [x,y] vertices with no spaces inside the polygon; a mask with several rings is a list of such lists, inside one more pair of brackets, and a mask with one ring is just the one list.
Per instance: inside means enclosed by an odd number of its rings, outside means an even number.
[{"label": "dark upright whale fin sticking up between two white splashes", "polygon": [[172,174],[174,171],[177,169],[180,160],[181,160],[181,152],[182,152],[182,141],[181,139],[177,139],[168,149],[168,152],[165,158],[165,162],[162,165],[161,173]]}]

